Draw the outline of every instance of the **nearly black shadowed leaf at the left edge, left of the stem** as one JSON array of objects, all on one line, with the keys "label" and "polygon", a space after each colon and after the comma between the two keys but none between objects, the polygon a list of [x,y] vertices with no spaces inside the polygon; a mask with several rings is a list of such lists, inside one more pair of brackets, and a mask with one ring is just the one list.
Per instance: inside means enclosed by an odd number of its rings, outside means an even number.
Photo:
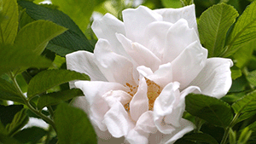
[{"label": "nearly black shadowed leaf at the left edge, left of the stem", "polygon": [[2,106],[0,105],[0,120],[3,125],[10,124],[15,117],[17,112],[23,108],[23,105],[11,105]]}]

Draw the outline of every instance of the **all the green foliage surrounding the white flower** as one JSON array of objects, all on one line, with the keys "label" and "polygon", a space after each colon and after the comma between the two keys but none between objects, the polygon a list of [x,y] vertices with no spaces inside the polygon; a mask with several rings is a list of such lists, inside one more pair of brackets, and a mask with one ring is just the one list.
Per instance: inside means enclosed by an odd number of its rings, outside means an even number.
[{"label": "all the green foliage surrounding the white flower", "polygon": [[[97,143],[86,114],[67,104],[83,95],[67,82],[90,78],[68,71],[64,56],[93,52],[97,39],[90,25],[97,16],[110,13],[122,20],[121,11],[137,5],[125,0],[41,1],[0,0],[0,143]],[[235,66],[231,89],[221,100],[186,96],[183,118],[197,128],[176,144],[256,143],[256,2],[143,1],[150,9],[191,3],[208,57],[228,57]],[[49,127],[24,128],[29,118],[44,119]]]}]

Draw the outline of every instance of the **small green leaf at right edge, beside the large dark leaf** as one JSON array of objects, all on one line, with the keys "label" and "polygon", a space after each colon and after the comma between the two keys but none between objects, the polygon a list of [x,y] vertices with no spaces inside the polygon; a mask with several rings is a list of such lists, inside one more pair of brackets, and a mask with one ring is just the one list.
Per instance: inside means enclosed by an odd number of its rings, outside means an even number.
[{"label": "small green leaf at right edge, beside the large dark leaf", "polygon": [[232,105],[232,108],[236,113],[256,110],[256,90],[236,101]]}]

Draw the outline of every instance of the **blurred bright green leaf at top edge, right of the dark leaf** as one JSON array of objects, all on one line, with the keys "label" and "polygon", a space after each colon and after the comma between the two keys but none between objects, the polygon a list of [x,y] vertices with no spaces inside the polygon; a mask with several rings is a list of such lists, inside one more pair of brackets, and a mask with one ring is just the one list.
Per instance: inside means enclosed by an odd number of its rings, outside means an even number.
[{"label": "blurred bright green leaf at top edge, right of the dark leaf", "polygon": [[90,16],[96,6],[96,0],[52,0],[53,4],[58,5],[60,10],[67,14],[84,32],[90,22]]}]

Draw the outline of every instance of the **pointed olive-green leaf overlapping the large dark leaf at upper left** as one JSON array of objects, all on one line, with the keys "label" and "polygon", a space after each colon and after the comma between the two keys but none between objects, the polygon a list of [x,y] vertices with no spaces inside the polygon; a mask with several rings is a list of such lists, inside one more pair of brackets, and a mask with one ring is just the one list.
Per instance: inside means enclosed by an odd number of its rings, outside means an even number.
[{"label": "pointed olive-green leaf overlapping the large dark leaf at upper left", "polygon": [[51,21],[36,20],[20,29],[15,44],[40,55],[49,40],[65,31],[67,31],[67,28],[58,26]]}]

